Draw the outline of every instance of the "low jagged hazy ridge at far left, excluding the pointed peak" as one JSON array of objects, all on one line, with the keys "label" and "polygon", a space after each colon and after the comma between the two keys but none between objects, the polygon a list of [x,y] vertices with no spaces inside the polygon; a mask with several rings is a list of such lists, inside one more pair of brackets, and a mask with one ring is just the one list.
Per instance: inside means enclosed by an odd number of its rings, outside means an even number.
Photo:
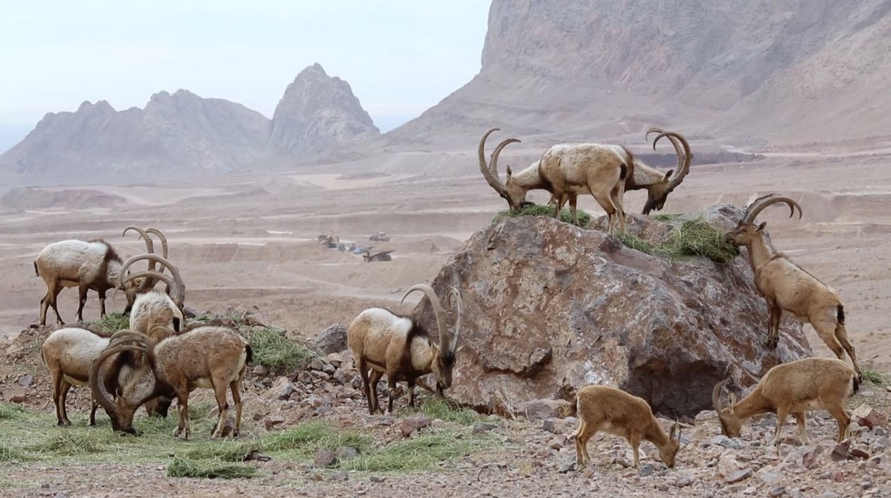
[{"label": "low jagged hazy ridge at far left, excluding the pointed peak", "polygon": [[232,172],[256,159],[268,120],[241,104],[186,90],[151,96],[145,109],[99,101],[48,113],[0,156],[30,184],[140,182]]}]

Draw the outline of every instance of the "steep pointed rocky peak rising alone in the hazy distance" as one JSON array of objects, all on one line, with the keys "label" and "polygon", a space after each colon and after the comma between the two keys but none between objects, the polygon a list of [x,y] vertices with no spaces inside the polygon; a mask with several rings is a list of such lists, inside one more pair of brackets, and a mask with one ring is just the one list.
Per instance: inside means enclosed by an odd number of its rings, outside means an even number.
[{"label": "steep pointed rocky peak rising alone in the hazy distance", "polygon": [[380,135],[349,84],[319,64],[303,69],[285,89],[269,127],[267,151],[307,157]]}]

